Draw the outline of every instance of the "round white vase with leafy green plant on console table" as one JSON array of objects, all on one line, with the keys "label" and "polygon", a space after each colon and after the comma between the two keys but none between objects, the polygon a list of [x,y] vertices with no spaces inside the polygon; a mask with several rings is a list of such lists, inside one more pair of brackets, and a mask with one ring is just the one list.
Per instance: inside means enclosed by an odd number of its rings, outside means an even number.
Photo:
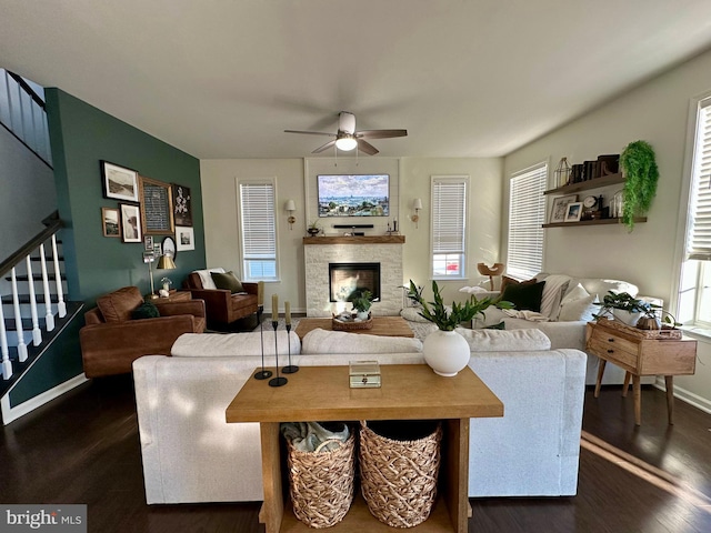
[{"label": "round white vase with leafy green plant on console table", "polygon": [[422,288],[418,288],[410,280],[410,290],[408,298],[420,306],[420,316],[427,319],[437,325],[437,330],[430,333],[422,344],[422,354],[424,361],[432,370],[444,376],[457,375],[457,373],[469,363],[469,343],[457,333],[454,329],[461,322],[469,322],[478,314],[483,316],[484,310],[491,305],[500,309],[511,309],[513,304],[507,301],[495,301],[491,296],[484,296],[478,300],[472,295],[463,304],[452,302],[450,309],[444,305],[444,301],[437,285],[437,281],[432,281],[433,302],[425,302],[422,298]]}]

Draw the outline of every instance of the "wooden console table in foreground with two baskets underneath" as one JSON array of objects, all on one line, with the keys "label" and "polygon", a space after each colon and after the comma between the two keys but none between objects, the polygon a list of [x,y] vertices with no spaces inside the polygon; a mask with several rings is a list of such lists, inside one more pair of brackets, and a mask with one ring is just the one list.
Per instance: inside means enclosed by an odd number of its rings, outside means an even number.
[{"label": "wooden console table in foreground with two baskets underneath", "polygon": [[[469,419],[503,416],[503,404],[465,368],[454,378],[437,375],[424,364],[381,365],[382,388],[350,389],[348,366],[301,366],[289,383],[271,388],[250,379],[227,409],[228,422],[259,422],[264,503],[259,521],[267,533],[312,532],[284,504],[280,422],[422,420],[443,421],[438,500],[430,517],[408,531],[468,531]],[[360,494],[333,532],[392,532],[373,517]]]}]

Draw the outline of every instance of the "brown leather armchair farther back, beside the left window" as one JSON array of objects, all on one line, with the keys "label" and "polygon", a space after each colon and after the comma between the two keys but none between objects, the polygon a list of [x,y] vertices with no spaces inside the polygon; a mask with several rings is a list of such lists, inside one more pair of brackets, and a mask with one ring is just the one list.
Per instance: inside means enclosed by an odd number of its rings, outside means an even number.
[{"label": "brown leather armchair farther back, beside the left window", "polygon": [[226,289],[203,289],[200,274],[191,272],[183,283],[192,298],[204,300],[208,324],[211,329],[222,329],[239,319],[257,313],[261,298],[262,282],[242,283],[247,294],[232,294]]}]

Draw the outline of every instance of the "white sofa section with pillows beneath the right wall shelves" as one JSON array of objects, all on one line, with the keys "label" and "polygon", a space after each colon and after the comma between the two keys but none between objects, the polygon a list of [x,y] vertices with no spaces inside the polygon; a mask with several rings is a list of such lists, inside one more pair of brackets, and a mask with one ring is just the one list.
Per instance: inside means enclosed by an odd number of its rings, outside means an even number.
[{"label": "white sofa section with pillows beneath the right wall shelves", "polygon": [[[540,315],[539,313],[519,313],[527,318],[515,318],[510,316],[505,311],[489,308],[485,311],[485,319],[474,320],[472,326],[487,328],[504,322],[507,330],[535,328],[548,335],[553,350],[574,348],[584,351],[585,324],[600,311],[600,305],[593,305],[592,302],[601,301],[608,291],[628,292],[633,296],[637,296],[639,291],[637,285],[621,280],[574,278],[545,272],[534,278],[537,282],[547,282],[543,286]],[[600,360],[595,355],[588,355],[587,384],[595,383],[599,363]],[[621,384],[623,381],[623,370],[614,365],[607,366],[603,384]]]}]

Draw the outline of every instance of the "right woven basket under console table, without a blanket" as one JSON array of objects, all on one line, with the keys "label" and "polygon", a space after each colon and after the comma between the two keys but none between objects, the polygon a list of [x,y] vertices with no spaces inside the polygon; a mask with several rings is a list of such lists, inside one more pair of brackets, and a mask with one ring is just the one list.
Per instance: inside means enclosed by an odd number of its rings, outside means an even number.
[{"label": "right woven basket under console table, without a blanket", "polygon": [[391,527],[413,527],[429,517],[437,497],[441,440],[440,423],[422,439],[400,441],[361,422],[361,492],[373,516]]}]

